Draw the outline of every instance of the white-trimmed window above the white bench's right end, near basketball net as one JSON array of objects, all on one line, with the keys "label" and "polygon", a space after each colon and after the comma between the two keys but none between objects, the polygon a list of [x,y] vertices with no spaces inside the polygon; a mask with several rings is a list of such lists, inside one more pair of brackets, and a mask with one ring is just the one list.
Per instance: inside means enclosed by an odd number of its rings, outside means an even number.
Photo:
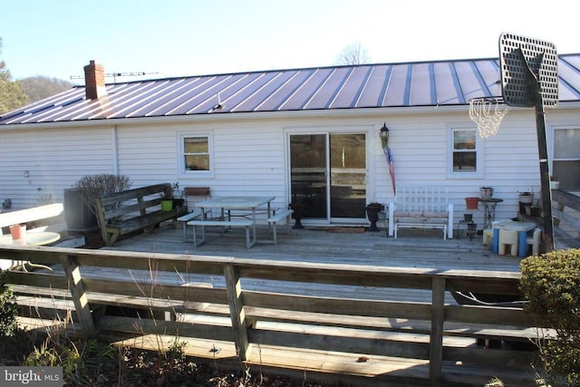
[{"label": "white-trimmed window above the white bench's right end, near basketball net", "polygon": [[481,177],[483,175],[483,140],[472,127],[449,130],[449,177]]}]

